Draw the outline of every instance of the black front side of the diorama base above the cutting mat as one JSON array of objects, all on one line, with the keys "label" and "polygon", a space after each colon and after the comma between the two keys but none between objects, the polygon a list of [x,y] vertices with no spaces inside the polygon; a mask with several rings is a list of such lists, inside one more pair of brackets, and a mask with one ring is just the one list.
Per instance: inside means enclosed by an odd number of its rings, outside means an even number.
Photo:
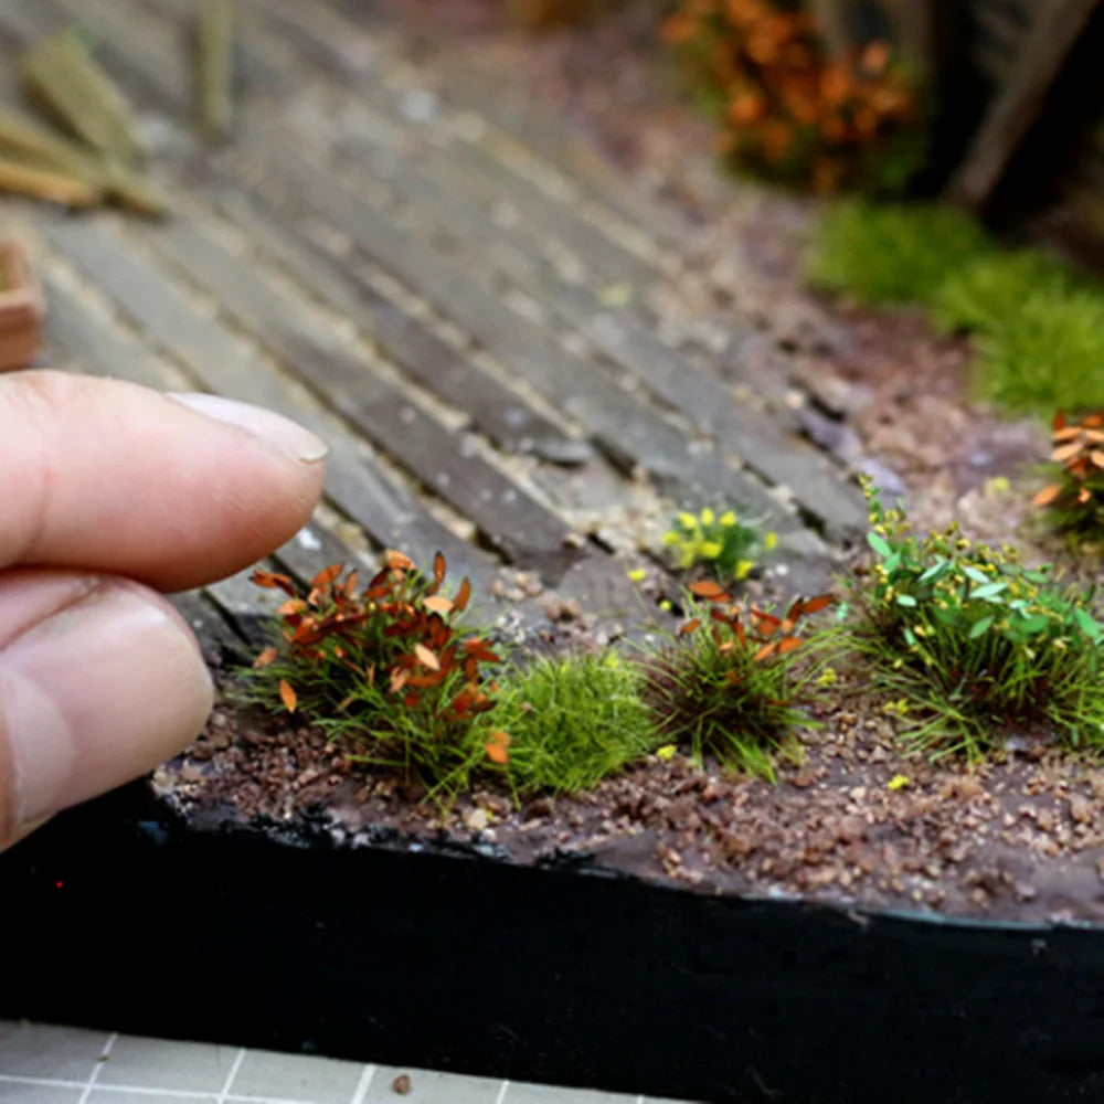
[{"label": "black front side of the diorama base above the cutting mat", "polygon": [[691,1101],[1104,1101],[1104,931],[696,894],[129,787],[0,856],[0,1017]]}]

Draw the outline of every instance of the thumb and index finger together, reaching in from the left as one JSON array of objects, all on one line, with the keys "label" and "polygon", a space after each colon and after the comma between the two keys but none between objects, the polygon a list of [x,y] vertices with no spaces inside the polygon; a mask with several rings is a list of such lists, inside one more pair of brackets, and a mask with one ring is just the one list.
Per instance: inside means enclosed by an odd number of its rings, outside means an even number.
[{"label": "thumb and index finger together, reaching in from the left", "polygon": [[242,403],[0,378],[0,849],[202,729],[211,678],[161,592],[290,538],[321,495],[325,453]]}]

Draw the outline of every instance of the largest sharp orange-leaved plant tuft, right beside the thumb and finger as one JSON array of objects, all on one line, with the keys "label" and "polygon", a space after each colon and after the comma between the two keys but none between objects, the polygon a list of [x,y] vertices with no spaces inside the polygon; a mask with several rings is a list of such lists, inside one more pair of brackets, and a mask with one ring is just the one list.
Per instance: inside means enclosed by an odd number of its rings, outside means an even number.
[{"label": "largest sharp orange-leaved plant tuft, right beside the thumb and finger", "polygon": [[499,658],[481,635],[460,635],[471,588],[464,580],[447,597],[445,570],[438,553],[425,578],[406,555],[388,552],[361,590],[357,570],[341,564],[307,588],[255,571],[258,586],[288,599],[273,643],[242,672],[238,699],[302,713],[350,744],[350,758],[396,766],[435,789],[461,787],[478,763],[506,756],[508,740],[480,743],[473,730],[491,708],[482,667]]}]

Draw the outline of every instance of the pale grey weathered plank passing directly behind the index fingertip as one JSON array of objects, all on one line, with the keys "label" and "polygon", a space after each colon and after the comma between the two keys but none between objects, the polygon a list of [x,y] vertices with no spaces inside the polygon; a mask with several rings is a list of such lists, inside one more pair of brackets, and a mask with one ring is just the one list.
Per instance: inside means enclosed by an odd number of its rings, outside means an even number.
[{"label": "pale grey weathered plank passing directly behind the index fingertip", "polygon": [[177,285],[104,223],[50,220],[43,232],[150,341],[185,364],[203,386],[286,414],[326,440],[330,446],[328,493],[380,544],[400,548],[420,563],[427,563],[440,550],[474,582],[489,583],[493,577],[493,561],[456,537],[365,457],[363,443],[337,417],[307,404],[298,389],[200,314]]}]

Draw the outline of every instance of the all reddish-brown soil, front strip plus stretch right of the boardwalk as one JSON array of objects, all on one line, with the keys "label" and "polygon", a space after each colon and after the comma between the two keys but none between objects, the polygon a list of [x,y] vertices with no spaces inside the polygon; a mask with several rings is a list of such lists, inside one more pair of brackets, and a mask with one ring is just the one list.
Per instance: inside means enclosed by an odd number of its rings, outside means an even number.
[{"label": "all reddish-brown soil, front strip plus stretch right of the boardwalk", "polygon": [[[484,72],[524,72],[530,96],[553,97],[643,187],[692,210],[708,231],[688,243],[684,278],[656,309],[680,323],[721,312],[742,319],[755,331],[743,379],[754,384],[756,373],[782,364],[806,432],[902,491],[919,530],[958,519],[975,538],[1015,541],[1029,561],[1062,559],[1025,506],[1038,482],[1032,465],[1045,455],[1044,427],[972,403],[968,349],[935,337],[919,316],[800,290],[815,208],[753,185],[733,189],[704,168],[708,127],[648,78],[654,59],[639,10],[625,15],[637,21],[631,36],[612,23],[529,40],[501,34],[477,0],[450,8],[447,25],[433,4],[432,30],[424,3],[390,7],[423,19],[415,55],[432,60],[447,41],[454,59],[478,51]],[[622,64],[609,64],[611,50]],[[442,811],[412,802],[417,792],[396,777],[348,763],[316,729],[226,705],[156,783],[184,809],[294,818],[326,805],[353,836],[376,825],[447,832],[524,862],[587,853],[701,892],[1104,923],[1104,768],[1018,733],[999,762],[974,771],[931,765],[902,752],[898,722],[860,676],[845,675],[839,690],[817,718],[822,728],[803,734],[804,763],[783,766],[774,786],[708,764],[700,771],[677,755],[577,797],[514,807],[489,785]],[[898,775],[907,783],[890,788]]]}]

